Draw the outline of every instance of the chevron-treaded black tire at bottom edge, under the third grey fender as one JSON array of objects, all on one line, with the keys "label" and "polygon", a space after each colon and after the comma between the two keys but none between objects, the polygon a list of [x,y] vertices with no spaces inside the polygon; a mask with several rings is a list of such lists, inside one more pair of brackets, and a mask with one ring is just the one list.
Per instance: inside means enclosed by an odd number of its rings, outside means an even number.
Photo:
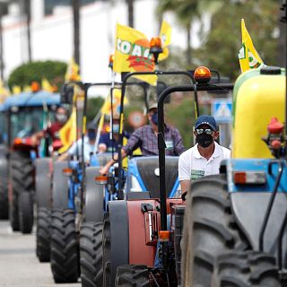
[{"label": "chevron-treaded black tire at bottom edge, under the third grey fender", "polygon": [[102,286],[102,222],[85,222],[80,234],[83,287]]}]

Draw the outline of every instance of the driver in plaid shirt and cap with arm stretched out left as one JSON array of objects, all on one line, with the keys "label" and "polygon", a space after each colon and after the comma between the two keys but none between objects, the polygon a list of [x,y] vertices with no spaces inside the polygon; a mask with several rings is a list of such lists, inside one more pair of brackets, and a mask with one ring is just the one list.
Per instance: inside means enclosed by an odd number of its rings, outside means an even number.
[{"label": "driver in plaid shirt and cap with arm stretched out left", "polygon": [[[135,130],[130,136],[125,146],[122,148],[122,158],[131,155],[138,147],[141,149],[143,156],[159,155],[158,149],[158,106],[152,104],[148,110],[148,118],[150,125],[141,126]],[[178,129],[165,125],[165,143],[166,155],[180,155],[185,151],[182,143],[182,137]],[[117,155],[115,156],[117,160]],[[116,161],[110,160],[104,167],[100,169],[101,174],[107,174],[109,168],[115,164]]]}]

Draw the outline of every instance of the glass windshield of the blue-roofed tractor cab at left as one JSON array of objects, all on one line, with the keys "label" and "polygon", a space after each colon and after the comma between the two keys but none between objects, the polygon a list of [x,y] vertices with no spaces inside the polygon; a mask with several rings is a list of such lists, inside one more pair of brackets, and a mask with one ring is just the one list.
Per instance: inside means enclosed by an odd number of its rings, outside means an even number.
[{"label": "glass windshield of the blue-roofed tractor cab at left", "polygon": [[[54,117],[50,112],[49,117],[51,116]],[[47,124],[48,113],[42,107],[19,109],[11,114],[12,138],[28,137],[46,128]]]}]

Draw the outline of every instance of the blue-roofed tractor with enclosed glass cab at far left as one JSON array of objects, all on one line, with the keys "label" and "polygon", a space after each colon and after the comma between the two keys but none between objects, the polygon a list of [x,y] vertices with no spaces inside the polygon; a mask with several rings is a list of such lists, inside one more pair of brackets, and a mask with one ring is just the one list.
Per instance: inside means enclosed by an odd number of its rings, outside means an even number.
[{"label": "blue-roofed tractor with enclosed glass cab at far left", "polygon": [[59,105],[59,95],[47,91],[22,92],[4,102],[9,162],[9,217],[12,229],[30,233],[35,191],[34,161],[48,155],[48,139],[38,149],[30,139],[48,123]]}]

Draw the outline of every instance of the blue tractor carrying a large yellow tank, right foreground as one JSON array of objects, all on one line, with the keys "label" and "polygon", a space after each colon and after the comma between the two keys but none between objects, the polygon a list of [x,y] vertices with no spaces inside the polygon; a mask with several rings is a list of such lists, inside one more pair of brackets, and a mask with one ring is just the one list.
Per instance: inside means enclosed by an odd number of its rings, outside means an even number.
[{"label": "blue tractor carrying a large yellow tank, right foreground", "polygon": [[232,158],[187,196],[182,286],[286,286],[285,81],[273,66],[236,81]]}]

